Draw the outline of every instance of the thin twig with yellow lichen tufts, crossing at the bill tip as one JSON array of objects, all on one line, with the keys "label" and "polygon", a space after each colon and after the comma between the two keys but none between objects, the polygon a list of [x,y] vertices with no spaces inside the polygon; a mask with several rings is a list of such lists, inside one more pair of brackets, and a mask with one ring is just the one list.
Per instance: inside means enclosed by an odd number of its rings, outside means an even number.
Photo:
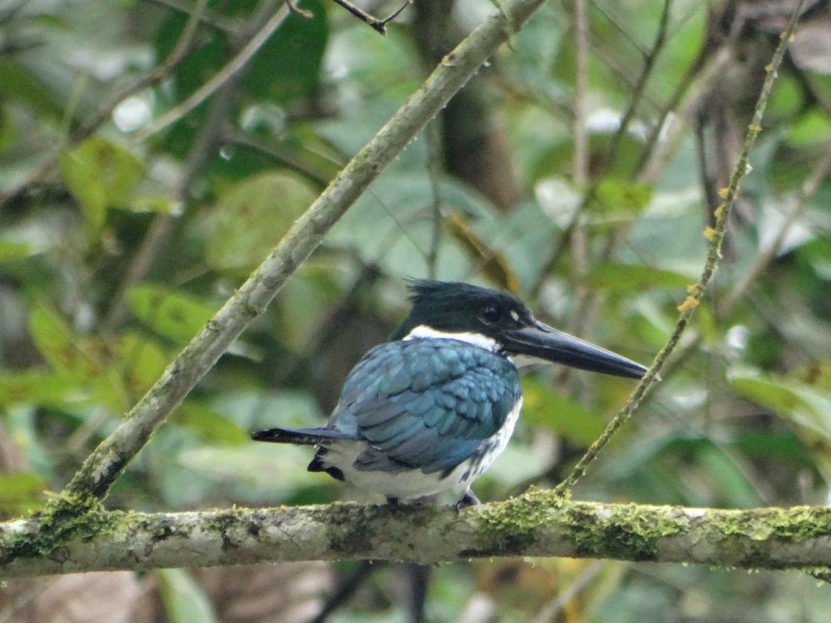
[{"label": "thin twig with yellow lichen tufts, crossing at the bill tip", "polygon": [[632,395],[629,397],[629,400],[627,400],[626,405],[624,405],[622,410],[615,415],[614,418],[612,418],[612,421],[609,422],[601,436],[594,442],[594,444],[592,444],[592,447],[588,449],[586,454],[583,454],[583,457],[578,461],[577,465],[574,466],[572,473],[570,473],[562,483],[558,484],[555,492],[560,496],[564,497],[571,492],[574,485],[577,484],[578,480],[586,473],[589,464],[597,458],[597,454],[601,452],[609,440],[612,439],[614,434],[617,433],[617,429],[620,429],[622,424],[626,422],[627,419],[632,417],[632,413],[634,413],[637,406],[640,405],[643,397],[647,395],[649,390],[652,389],[652,386],[655,385],[656,381],[660,380],[658,373],[661,371],[661,367],[670,353],[675,350],[678,341],[681,339],[681,335],[685,331],[687,324],[690,322],[693,312],[695,312],[696,307],[698,307],[698,303],[701,301],[701,296],[704,294],[707,285],[711,282],[711,279],[715,274],[715,270],[718,267],[719,260],[721,258],[721,243],[724,240],[725,227],[727,225],[727,220],[730,217],[730,210],[732,210],[733,205],[735,204],[741,180],[744,179],[745,174],[750,171],[750,152],[753,150],[756,137],[762,129],[762,117],[765,114],[765,107],[767,106],[768,99],[770,98],[770,91],[773,89],[774,82],[776,81],[776,72],[779,69],[779,65],[782,62],[785,51],[788,48],[790,37],[792,37],[794,33],[794,26],[797,18],[799,17],[799,12],[803,2],[804,0],[800,0],[791,15],[788,26],[782,33],[779,45],[776,47],[773,59],[767,67],[765,83],[762,86],[759,99],[756,101],[753,120],[750,121],[747,134],[745,135],[745,144],[742,146],[738,162],[735,164],[732,174],[730,174],[730,183],[725,189],[724,202],[715,211],[715,227],[708,228],[706,230],[706,238],[710,242],[710,250],[707,254],[704,269],[701,272],[701,277],[696,285],[689,288],[690,295],[686,298],[686,301],[681,303],[678,307],[681,315],[678,318],[675,330],[672,331],[669,340],[666,341],[666,344],[663,348],[661,348],[661,351],[655,357],[652,367],[647,371],[647,374],[632,392]]}]

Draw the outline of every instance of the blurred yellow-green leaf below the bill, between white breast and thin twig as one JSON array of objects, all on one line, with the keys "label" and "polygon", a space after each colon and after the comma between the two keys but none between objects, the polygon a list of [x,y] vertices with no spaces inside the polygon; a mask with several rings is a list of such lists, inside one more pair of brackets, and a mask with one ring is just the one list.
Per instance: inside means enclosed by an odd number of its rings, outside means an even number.
[{"label": "blurred yellow-green leaf below the bill, between white breast and thin twig", "polygon": [[575,400],[570,400],[540,383],[533,376],[524,376],[523,419],[534,426],[562,435],[578,446],[588,446],[603,432],[605,424]]}]

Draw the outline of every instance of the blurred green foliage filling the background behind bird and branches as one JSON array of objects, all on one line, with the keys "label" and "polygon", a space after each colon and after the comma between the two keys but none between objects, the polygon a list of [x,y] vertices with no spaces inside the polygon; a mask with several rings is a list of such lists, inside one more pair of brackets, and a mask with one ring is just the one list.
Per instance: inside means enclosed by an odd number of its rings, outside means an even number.
[{"label": "blurred green foliage filling the background behind bird and branches", "polygon": [[[0,2],[6,518],[66,483],[340,165],[496,10],[417,0],[381,37],[333,3],[302,0],[314,17],[289,15],[231,75],[280,4]],[[514,290],[545,321],[650,361],[701,271],[702,230],[790,4],[544,5],[337,224],[108,505],[364,499],[307,473],[307,451],[251,444],[248,431],[322,421],[351,366],[406,313],[404,277]],[[828,501],[826,3],[806,2],[801,24],[715,287],[581,498]],[[219,90],[184,114],[218,74]],[[183,114],[152,125],[170,110]],[[526,376],[523,419],[479,496],[553,486],[629,389],[568,370]],[[343,621],[824,621],[829,589],[814,584],[570,560],[298,564],[15,582],[0,620],[92,601],[106,614],[86,611],[90,621],[306,621],[324,604]]]}]

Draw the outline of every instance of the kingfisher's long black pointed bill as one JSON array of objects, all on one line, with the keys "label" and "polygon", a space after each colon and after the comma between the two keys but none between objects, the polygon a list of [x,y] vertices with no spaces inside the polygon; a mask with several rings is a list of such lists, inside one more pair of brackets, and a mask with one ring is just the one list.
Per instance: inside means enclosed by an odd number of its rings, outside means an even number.
[{"label": "kingfisher's long black pointed bill", "polygon": [[640,379],[647,371],[641,364],[600,346],[594,346],[588,341],[569,336],[568,333],[558,331],[542,322],[509,331],[505,337],[507,339],[504,340],[504,348],[511,355],[529,356],[570,365],[580,370],[626,376],[630,379]]}]

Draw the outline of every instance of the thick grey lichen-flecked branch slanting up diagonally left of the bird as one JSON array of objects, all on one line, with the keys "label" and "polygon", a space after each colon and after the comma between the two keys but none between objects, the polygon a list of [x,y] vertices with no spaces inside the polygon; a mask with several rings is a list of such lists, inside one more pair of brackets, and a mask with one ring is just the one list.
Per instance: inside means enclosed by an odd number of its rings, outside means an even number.
[{"label": "thick grey lichen-flecked branch slanting up diagonally left of the bird", "polygon": [[[484,61],[517,32],[543,0],[512,0],[482,22],[406,104],[356,154],[248,281],[199,331],[127,418],[90,454],[53,508],[91,496],[103,499],[127,464],[237,336],[262,314],[323,237],[367,186],[459,91]],[[90,503],[82,505],[91,506]]]}]

